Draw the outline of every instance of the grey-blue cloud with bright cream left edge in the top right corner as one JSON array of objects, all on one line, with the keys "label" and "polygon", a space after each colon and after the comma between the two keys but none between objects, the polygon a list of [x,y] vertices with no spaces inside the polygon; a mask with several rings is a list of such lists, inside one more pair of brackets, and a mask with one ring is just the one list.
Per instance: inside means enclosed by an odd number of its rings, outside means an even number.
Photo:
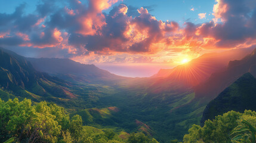
[{"label": "grey-blue cloud with bright cream left edge in the top right corner", "polygon": [[256,1],[217,1],[214,16],[222,23],[205,23],[199,27],[204,37],[215,40],[219,48],[250,46],[255,42]]}]

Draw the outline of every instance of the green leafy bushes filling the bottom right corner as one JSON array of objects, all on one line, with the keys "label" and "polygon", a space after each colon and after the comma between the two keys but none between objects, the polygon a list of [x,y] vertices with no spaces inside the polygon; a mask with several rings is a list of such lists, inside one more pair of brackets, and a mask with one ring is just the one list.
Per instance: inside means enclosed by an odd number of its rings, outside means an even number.
[{"label": "green leafy bushes filling the bottom right corner", "polygon": [[[249,119],[249,122],[256,123],[255,111],[245,110],[244,113],[229,111],[223,116],[217,116],[214,120],[206,120],[203,127],[193,125],[189,134],[184,135],[184,142],[232,142],[230,134],[241,133],[245,130],[246,122],[241,119]],[[241,126],[243,125],[243,126]],[[246,125],[249,128],[249,125]],[[252,127],[252,126],[251,126]],[[251,128],[252,129],[252,128]],[[232,131],[233,130],[233,131]],[[252,132],[251,132],[252,133]],[[236,139],[235,136],[234,139]]]}]

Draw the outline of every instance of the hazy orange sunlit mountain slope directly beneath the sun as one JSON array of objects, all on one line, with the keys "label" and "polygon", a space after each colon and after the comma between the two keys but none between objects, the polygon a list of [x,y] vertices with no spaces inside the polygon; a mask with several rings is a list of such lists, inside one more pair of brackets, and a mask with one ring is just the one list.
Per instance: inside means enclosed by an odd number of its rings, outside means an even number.
[{"label": "hazy orange sunlit mountain slope directly beneath the sun", "polygon": [[229,61],[243,58],[251,51],[253,48],[203,54],[189,63],[181,64],[173,69],[161,69],[152,77],[164,77],[162,82],[174,81],[187,86],[196,86],[205,82],[212,73],[225,70]]}]

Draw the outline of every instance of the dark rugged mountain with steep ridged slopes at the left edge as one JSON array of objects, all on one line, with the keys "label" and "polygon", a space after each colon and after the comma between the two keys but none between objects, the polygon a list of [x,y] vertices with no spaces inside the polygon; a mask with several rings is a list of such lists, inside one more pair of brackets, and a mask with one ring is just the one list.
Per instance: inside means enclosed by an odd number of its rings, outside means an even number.
[{"label": "dark rugged mountain with steep ridged slopes at the left edge", "polygon": [[36,71],[32,64],[21,56],[14,57],[0,49],[0,61],[0,87],[11,97],[14,95],[35,101],[38,101],[38,96],[76,97],[75,94],[67,91],[68,82]]}]

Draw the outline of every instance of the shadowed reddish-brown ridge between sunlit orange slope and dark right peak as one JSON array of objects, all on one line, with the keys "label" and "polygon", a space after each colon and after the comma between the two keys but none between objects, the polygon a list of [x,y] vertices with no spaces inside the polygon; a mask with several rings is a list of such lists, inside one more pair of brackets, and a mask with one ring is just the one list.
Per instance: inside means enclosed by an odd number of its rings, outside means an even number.
[{"label": "shadowed reddish-brown ridge between sunlit orange slope and dark right peak", "polygon": [[208,80],[196,86],[196,98],[203,102],[209,102],[243,74],[249,72],[256,76],[255,65],[256,49],[242,60],[230,61],[226,70],[212,74]]}]

